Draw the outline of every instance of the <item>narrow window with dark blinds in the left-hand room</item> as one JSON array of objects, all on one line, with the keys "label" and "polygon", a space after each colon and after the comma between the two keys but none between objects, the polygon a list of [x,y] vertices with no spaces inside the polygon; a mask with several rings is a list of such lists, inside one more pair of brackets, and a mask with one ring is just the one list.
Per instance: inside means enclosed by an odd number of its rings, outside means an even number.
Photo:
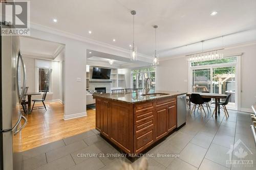
[{"label": "narrow window with dark blinds in the left-hand room", "polygon": [[51,85],[51,72],[49,68],[38,68],[38,91],[49,91]]}]

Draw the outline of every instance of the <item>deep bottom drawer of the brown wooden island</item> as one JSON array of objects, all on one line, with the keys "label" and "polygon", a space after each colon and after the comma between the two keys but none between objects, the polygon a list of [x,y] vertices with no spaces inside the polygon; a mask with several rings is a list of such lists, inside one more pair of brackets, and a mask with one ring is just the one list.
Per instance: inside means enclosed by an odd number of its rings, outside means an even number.
[{"label": "deep bottom drawer of the brown wooden island", "polygon": [[140,153],[154,143],[154,127],[149,128],[145,133],[135,135],[135,153]]}]

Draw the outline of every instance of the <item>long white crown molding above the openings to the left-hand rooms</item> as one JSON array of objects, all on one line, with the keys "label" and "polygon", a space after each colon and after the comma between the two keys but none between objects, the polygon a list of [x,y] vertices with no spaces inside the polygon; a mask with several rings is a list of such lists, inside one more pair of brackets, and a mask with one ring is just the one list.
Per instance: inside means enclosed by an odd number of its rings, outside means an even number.
[{"label": "long white crown molding above the openings to the left-hand rooms", "polygon": [[[31,22],[30,26],[31,26],[32,29],[35,29],[35,30],[39,30],[39,31],[59,35],[59,36],[62,36],[62,37],[75,39],[75,40],[86,42],[86,43],[89,43],[89,44],[99,45],[99,46],[102,46],[102,47],[110,48],[112,50],[116,50],[116,51],[119,51],[119,52],[130,54],[130,51],[125,49],[125,48],[121,48],[121,47],[118,47],[118,46],[115,46],[115,45],[111,45],[111,44],[101,42],[101,41],[97,41],[97,40],[94,40],[94,39],[90,39],[90,38],[87,38],[87,37],[82,37],[82,36],[72,34],[72,33],[68,33],[68,32],[65,32],[65,31],[61,31],[61,30],[58,30],[58,29],[53,29],[53,28],[50,28],[50,27],[42,26],[42,25],[39,25],[39,24],[34,23],[34,22]],[[141,57],[141,58],[146,58],[146,59],[151,59],[152,58],[151,56],[147,56],[147,55],[144,55],[144,54],[141,54],[141,53],[138,53],[138,56]]]}]

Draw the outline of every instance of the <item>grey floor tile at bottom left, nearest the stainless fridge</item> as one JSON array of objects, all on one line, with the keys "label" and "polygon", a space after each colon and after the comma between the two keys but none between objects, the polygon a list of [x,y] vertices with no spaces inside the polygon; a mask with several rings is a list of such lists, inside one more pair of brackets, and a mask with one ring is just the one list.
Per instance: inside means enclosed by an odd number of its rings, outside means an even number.
[{"label": "grey floor tile at bottom left, nearest the stainless fridge", "polygon": [[35,157],[31,157],[29,159],[26,159],[22,162],[22,169],[30,170],[30,169],[35,169],[39,166],[42,166],[46,164],[46,154],[40,154]]}]

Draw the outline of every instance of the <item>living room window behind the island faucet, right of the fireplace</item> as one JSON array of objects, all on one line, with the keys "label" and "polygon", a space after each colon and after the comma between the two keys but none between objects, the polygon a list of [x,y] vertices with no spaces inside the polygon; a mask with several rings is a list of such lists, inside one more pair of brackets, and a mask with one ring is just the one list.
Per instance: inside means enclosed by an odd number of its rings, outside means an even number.
[{"label": "living room window behind the island faucet, right of the fireplace", "polygon": [[156,67],[145,67],[132,70],[132,87],[144,88],[144,81],[150,78],[152,82],[151,89],[156,89]]}]

